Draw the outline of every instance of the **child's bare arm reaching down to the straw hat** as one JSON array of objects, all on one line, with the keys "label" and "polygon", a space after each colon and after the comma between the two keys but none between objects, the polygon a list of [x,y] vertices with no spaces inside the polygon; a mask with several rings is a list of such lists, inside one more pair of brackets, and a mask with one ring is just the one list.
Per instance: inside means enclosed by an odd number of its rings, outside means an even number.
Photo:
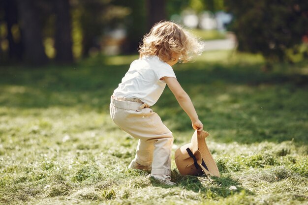
[{"label": "child's bare arm reaching down to the straw hat", "polygon": [[178,80],[174,77],[163,77],[161,80],[164,80],[167,83],[168,87],[178,100],[180,106],[190,117],[192,127],[197,130],[198,134],[200,134],[203,130],[203,124],[198,118],[198,115],[195,108],[193,107],[190,97],[181,87]]}]

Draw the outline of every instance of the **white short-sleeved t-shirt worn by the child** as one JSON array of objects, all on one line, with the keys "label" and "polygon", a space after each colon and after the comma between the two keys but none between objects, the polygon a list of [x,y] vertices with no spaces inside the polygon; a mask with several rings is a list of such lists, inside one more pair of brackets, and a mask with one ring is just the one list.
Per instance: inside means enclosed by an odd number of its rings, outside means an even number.
[{"label": "white short-sleeved t-shirt worn by the child", "polygon": [[159,80],[162,77],[176,78],[172,67],[157,56],[144,56],[130,64],[113,94],[117,97],[138,98],[152,106],[166,87],[166,83]]}]

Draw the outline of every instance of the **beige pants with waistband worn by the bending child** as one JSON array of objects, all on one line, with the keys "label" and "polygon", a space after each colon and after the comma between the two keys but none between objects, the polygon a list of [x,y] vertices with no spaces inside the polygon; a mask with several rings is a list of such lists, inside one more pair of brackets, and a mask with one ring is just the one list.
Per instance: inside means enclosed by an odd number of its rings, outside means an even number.
[{"label": "beige pants with waistband worn by the bending child", "polygon": [[173,136],[160,117],[139,99],[113,96],[110,115],[121,129],[139,139],[134,160],[152,165],[152,175],[170,175]]}]

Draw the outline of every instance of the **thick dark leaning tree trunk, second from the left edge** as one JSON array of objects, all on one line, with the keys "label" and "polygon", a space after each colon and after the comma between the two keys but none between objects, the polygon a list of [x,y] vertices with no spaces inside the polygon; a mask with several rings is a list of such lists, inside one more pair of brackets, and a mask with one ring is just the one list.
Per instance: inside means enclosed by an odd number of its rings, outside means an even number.
[{"label": "thick dark leaning tree trunk, second from the left edge", "polygon": [[25,49],[23,59],[35,65],[45,64],[48,59],[43,46],[41,22],[35,7],[36,0],[16,0],[16,3]]}]

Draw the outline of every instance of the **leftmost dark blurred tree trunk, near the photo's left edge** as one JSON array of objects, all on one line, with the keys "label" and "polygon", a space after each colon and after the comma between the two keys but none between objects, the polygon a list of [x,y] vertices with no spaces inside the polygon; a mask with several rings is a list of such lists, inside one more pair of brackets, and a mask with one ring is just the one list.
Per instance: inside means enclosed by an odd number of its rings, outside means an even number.
[{"label": "leftmost dark blurred tree trunk, near the photo's left edge", "polygon": [[21,39],[15,42],[12,34],[12,27],[18,25],[18,14],[15,0],[4,0],[4,20],[7,25],[7,40],[9,45],[9,61],[21,61],[22,43]]}]

